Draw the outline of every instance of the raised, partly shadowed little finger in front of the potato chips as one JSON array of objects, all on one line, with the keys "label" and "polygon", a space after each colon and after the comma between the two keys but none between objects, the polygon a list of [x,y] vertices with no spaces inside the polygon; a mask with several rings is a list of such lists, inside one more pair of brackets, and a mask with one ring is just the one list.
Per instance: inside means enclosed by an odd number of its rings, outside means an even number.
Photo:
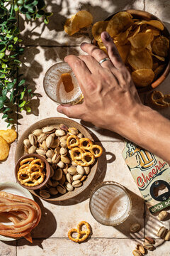
[{"label": "raised, partly shadowed little finger in front of the potato chips", "polygon": [[108,50],[108,56],[115,68],[122,68],[124,66],[123,60],[121,59],[111,36],[109,36],[107,32],[103,32],[101,33],[101,39]]}]

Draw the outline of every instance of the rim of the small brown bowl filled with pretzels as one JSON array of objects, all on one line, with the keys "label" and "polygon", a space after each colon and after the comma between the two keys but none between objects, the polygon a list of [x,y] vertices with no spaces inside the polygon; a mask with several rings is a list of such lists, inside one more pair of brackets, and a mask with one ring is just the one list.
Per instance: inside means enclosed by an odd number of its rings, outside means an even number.
[{"label": "rim of the small brown bowl filled with pretzels", "polygon": [[[25,186],[23,185],[20,181],[18,181],[18,170],[20,168],[20,162],[23,160],[23,159],[26,159],[28,157],[35,157],[37,159],[41,159],[44,163],[45,163],[45,180],[40,183],[40,185],[38,186],[33,186],[33,187],[29,187],[29,186]],[[21,185],[23,186],[23,188],[27,188],[29,190],[37,190],[37,189],[40,189],[42,188],[42,186],[45,186],[45,184],[47,183],[47,181],[49,180],[50,178],[50,164],[48,164],[48,162],[44,159],[44,157],[38,155],[38,154],[26,154],[25,156],[22,156],[20,159],[18,159],[17,163],[16,163],[16,167],[15,167],[15,176],[16,176],[16,181]]]}]

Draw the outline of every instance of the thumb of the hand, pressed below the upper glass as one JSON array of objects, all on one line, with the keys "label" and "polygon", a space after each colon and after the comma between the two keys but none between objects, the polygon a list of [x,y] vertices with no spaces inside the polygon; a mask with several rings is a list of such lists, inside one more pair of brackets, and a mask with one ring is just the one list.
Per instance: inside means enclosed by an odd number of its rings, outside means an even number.
[{"label": "thumb of the hand, pressed below the upper glass", "polygon": [[85,107],[83,104],[74,105],[74,106],[58,106],[57,112],[67,115],[70,118],[83,119],[85,111]]}]

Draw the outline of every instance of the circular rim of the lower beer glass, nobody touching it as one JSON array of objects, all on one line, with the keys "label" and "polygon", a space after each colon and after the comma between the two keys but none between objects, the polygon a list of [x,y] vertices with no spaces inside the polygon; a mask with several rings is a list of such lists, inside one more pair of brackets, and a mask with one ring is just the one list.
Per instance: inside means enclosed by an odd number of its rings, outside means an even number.
[{"label": "circular rim of the lower beer glass, nobody touching it", "polygon": [[[91,191],[91,195],[90,195],[90,201],[89,201],[89,209],[90,209],[90,212],[91,212],[91,215],[94,217],[93,213],[92,213],[92,210],[91,210],[91,200],[92,200],[92,197],[94,196],[94,193],[101,187],[103,186],[107,186],[107,185],[115,185],[115,186],[118,186],[120,188],[123,189],[123,191],[125,191],[125,193],[127,194],[128,198],[129,198],[129,201],[130,201],[130,208],[128,210],[128,214],[127,216],[121,220],[119,223],[116,223],[116,224],[111,224],[111,225],[107,225],[107,226],[116,226],[116,225],[120,225],[121,223],[123,223],[130,215],[130,211],[132,210],[132,199],[130,198],[130,194],[128,193],[127,189],[125,188],[125,186],[121,185],[120,183],[118,182],[115,182],[115,181],[102,181],[101,183],[98,183],[98,185],[96,185],[93,190]],[[98,222],[98,223],[101,223],[102,225],[106,225],[106,224],[103,224],[100,220],[97,220],[95,217],[94,219]]]}]

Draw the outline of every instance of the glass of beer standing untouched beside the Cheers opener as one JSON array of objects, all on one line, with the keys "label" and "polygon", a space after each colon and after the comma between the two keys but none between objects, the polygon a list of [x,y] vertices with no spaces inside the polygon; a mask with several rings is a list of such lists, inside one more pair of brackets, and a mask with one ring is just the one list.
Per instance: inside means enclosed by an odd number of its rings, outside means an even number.
[{"label": "glass of beer standing untouched beside the Cheers opener", "polygon": [[103,225],[120,225],[130,215],[131,198],[126,189],[114,181],[98,184],[90,197],[90,210]]}]

